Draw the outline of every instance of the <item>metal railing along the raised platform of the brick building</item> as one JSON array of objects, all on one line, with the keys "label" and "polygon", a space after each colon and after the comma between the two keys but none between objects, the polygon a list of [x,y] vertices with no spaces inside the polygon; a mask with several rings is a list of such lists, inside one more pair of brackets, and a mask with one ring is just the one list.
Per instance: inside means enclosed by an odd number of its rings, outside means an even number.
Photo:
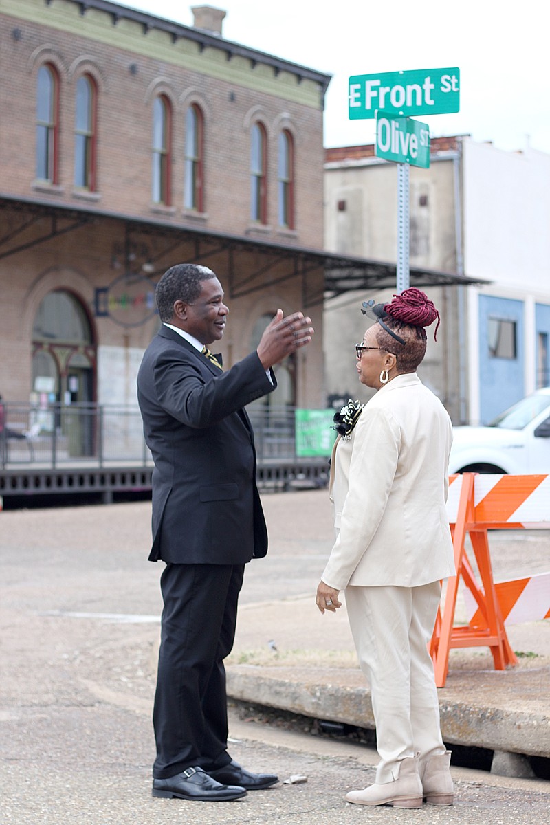
[{"label": "metal railing along the raised platform of the brick building", "polygon": [[[251,404],[247,412],[254,427],[258,464],[300,463],[294,446],[294,408]],[[137,406],[3,403],[0,413],[2,469],[153,463]]]}]

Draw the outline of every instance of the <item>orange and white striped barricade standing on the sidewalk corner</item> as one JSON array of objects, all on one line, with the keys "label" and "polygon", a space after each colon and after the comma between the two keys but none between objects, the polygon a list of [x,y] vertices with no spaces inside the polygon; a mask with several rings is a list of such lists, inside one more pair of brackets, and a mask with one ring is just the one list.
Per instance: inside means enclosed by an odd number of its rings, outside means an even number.
[{"label": "orange and white striped barricade standing on the sidewalk corner", "polygon": [[[550,476],[483,475],[464,473],[449,478],[447,512],[453,535],[457,575],[449,578],[430,643],[435,683],[443,687],[449,671],[450,648],[488,647],[496,670],[517,664],[505,630],[513,610],[526,606],[522,592],[529,587],[538,594],[534,618],[550,615],[550,574],[495,584],[489,551],[489,530],[523,530],[550,527]],[[469,535],[479,578],[472,569],[464,541]],[[454,626],[458,583],[462,578],[473,602],[468,625]],[[533,584],[529,582],[533,582]],[[546,607],[543,605],[546,604]],[[542,606],[540,606],[542,605]],[[530,615],[533,610],[530,610]],[[529,619],[531,620],[531,619]]]}]

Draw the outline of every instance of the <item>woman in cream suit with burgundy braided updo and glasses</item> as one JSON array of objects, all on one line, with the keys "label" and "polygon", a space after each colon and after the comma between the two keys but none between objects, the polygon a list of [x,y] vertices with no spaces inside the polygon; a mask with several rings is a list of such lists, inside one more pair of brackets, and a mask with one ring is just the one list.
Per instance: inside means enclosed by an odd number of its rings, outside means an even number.
[{"label": "woman in cream suit with burgundy braided updo and glasses", "polygon": [[339,608],[338,594],[346,591],[376,722],[376,781],[346,799],[402,808],[420,807],[423,797],[452,804],[450,753],[427,648],[440,580],[455,573],[445,512],[452,428],[416,375],[425,326],[439,314],[414,288],[390,304],[373,303],[377,323],[357,346],[357,371],[378,392],[336,443],[336,543],[317,588],[322,613]]}]

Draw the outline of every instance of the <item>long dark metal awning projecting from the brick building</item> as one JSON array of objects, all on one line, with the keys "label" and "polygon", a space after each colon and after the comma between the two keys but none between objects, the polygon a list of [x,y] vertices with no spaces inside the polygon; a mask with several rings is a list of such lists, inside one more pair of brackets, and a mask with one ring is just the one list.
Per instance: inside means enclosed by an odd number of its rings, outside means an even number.
[{"label": "long dark metal awning projecting from the brick building", "polygon": [[[336,295],[360,290],[372,294],[374,291],[391,289],[397,282],[397,265],[393,262],[376,261],[370,258],[326,252],[322,249],[301,247],[291,243],[263,240],[249,235],[233,235],[211,229],[201,229],[189,224],[175,224],[162,217],[144,219],[119,212],[98,210],[89,205],[62,205],[44,199],[14,197],[0,193],[0,210],[21,213],[21,222],[0,237],[0,260],[22,252],[28,248],[82,229],[98,219],[112,220],[123,225],[125,247],[134,233],[154,235],[166,239],[164,251],[175,246],[175,242],[185,240],[186,262],[201,263],[220,253],[227,254],[228,272],[232,282],[232,297],[247,295],[261,290],[266,284],[266,273],[277,265],[277,281],[285,281],[295,276],[307,276],[309,271],[324,272],[323,288],[308,290],[305,306],[320,304]],[[189,254],[190,253],[190,254]],[[246,277],[239,273],[238,257],[255,257],[255,272],[247,271]],[[154,262],[147,271],[155,272]],[[284,271],[281,275],[281,268]],[[455,272],[443,272],[411,266],[410,284],[416,287],[473,285],[487,283],[479,278],[461,276]]]}]

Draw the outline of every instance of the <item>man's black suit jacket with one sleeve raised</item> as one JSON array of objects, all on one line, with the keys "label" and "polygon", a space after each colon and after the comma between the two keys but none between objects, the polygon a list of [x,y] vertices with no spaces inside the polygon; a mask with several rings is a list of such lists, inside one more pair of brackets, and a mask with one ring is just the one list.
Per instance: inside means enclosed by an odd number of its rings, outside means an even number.
[{"label": "man's black suit jacket with one sleeve raised", "polygon": [[162,326],[143,355],[138,401],[153,454],[149,559],[240,564],[267,552],[245,404],[275,389],[256,351],[221,372]]}]

